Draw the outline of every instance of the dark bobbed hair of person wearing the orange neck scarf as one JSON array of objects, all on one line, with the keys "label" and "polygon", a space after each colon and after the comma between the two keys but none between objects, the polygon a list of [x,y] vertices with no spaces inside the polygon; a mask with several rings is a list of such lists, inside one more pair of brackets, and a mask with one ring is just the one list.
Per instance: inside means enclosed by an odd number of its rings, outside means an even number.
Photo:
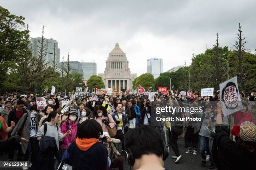
[{"label": "dark bobbed hair of person wearing the orange neck scarf", "polygon": [[88,119],[82,122],[77,128],[77,138],[96,138],[103,134],[102,127],[94,119]]}]

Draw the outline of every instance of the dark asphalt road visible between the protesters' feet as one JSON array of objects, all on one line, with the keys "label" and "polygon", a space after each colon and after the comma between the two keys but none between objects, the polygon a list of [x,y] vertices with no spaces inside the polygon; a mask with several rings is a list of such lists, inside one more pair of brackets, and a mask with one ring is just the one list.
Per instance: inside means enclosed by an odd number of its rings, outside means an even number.
[{"label": "dark asphalt road visible between the protesters' feet", "polygon": [[[164,167],[170,170],[208,170],[210,162],[207,162],[206,167],[201,167],[201,155],[200,149],[197,150],[197,155],[186,154],[187,148],[184,148],[184,138],[181,136],[178,139],[179,151],[182,155],[182,159],[179,164],[175,164],[171,156],[174,156],[174,152],[170,147],[169,157],[164,161]],[[7,160],[7,155],[3,155],[0,158],[0,161]],[[123,159],[124,160],[124,159]],[[124,169],[130,170],[130,166],[124,162]],[[217,168],[215,168],[216,170]],[[1,170],[1,168],[0,168]],[[15,170],[18,170],[17,168]]]}]

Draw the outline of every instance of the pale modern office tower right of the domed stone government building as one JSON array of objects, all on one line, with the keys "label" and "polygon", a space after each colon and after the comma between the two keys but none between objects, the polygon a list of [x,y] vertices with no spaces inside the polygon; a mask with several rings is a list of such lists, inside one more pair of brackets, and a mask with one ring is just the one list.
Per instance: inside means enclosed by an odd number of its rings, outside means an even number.
[{"label": "pale modern office tower right of the domed stone government building", "polygon": [[162,58],[150,58],[147,61],[147,73],[154,75],[154,78],[159,77],[163,72],[163,59]]}]

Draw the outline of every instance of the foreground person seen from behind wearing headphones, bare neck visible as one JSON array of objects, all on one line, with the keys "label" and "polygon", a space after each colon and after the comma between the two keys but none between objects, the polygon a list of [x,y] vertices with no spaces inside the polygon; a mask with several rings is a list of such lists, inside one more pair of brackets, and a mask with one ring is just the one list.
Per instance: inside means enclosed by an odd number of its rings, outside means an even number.
[{"label": "foreground person seen from behind wearing headphones, bare neck visible", "polygon": [[125,134],[125,160],[133,170],[167,170],[168,155],[169,148],[154,127],[138,125]]}]

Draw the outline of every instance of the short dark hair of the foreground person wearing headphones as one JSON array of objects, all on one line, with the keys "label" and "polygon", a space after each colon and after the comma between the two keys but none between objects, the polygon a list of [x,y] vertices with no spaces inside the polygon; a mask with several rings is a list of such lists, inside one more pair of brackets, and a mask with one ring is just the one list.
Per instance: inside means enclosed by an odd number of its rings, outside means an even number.
[{"label": "short dark hair of the foreground person wearing headphones", "polygon": [[158,157],[163,155],[163,140],[161,134],[152,126],[139,125],[128,130],[124,136],[125,148],[133,153],[133,158],[139,159],[142,155],[155,154]]}]

